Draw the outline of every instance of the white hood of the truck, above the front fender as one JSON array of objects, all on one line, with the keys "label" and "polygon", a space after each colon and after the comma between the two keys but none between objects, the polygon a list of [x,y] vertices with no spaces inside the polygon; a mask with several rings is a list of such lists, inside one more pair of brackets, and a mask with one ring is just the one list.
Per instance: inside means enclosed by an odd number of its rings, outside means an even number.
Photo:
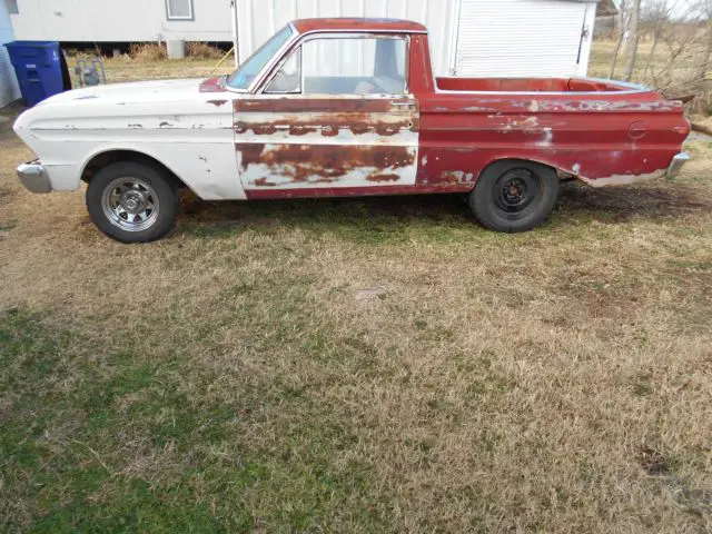
[{"label": "white hood of the truck, above the front fender", "polygon": [[136,81],[88,87],[55,95],[36,107],[79,106],[82,103],[131,105],[195,99],[200,92],[202,79]]}]

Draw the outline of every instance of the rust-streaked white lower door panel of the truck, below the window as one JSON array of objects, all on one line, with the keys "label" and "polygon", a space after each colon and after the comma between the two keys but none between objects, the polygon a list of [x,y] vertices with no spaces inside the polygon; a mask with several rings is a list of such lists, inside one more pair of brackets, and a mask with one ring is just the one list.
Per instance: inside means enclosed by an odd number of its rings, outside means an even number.
[{"label": "rust-streaked white lower door panel of the truck, below the window", "polygon": [[414,99],[259,96],[234,106],[237,162],[248,196],[415,185]]}]

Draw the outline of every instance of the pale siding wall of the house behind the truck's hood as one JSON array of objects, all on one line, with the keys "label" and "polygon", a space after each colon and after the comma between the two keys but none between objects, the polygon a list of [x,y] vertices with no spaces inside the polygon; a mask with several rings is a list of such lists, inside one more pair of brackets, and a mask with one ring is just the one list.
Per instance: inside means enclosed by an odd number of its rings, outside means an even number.
[{"label": "pale siding wall of the house behind the truck's hood", "polygon": [[192,0],[194,20],[167,20],[165,0],[18,0],[17,39],[231,41],[229,0]]}]

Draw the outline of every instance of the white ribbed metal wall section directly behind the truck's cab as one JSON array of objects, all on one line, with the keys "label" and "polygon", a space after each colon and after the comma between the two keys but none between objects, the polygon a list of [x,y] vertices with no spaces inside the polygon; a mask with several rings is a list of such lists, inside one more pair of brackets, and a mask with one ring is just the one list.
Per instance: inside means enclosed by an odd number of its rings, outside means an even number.
[{"label": "white ribbed metal wall section directly behind the truck's cab", "polygon": [[376,17],[415,20],[431,34],[434,68],[447,73],[455,0],[241,0],[237,20],[240,60],[248,58],[279,28],[313,17]]}]

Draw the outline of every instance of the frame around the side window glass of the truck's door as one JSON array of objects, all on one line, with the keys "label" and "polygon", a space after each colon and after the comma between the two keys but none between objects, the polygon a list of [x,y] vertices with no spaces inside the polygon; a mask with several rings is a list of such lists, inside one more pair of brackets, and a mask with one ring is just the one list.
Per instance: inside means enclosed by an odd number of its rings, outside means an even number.
[{"label": "frame around the side window glass of the truck's door", "polygon": [[[300,80],[300,91],[299,92],[266,92],[273,80],[277,76],[277,73],[281,70],[283,66],[291,58],[291,55],[301,50],[301,46],[305,42],[313,41],[316,39],[397,39],[405,41],[405,65],[404,67],[404,78],[405,78],[405,87],[403,89],[403,93],[374,93],[374,95],[357,95],[353,92],[342,92],[337,95],[333,93],[304,93],[304,68],[300,65],[301,72],[299,76]],[[300,61],[304,61],[304,53],[300,55]],[[411,34],[404,32],[389,32],[389,31],[325,31],[325,32],[309,32],[300,34],[298,39],[296,39],[287,50],[281,52],[279,60],[277,60],[274,65],[267,66],[266,69],[269,69],[267,75],[259,81],[255,90],[255,95],[264,95],[264,96],[274,96],[274,95],[289,95],[293,98],[301,97],[301,98],[316,98],[316,97],[354,97],[354,98],[402,98],[406,96],[411,96]]]}]

